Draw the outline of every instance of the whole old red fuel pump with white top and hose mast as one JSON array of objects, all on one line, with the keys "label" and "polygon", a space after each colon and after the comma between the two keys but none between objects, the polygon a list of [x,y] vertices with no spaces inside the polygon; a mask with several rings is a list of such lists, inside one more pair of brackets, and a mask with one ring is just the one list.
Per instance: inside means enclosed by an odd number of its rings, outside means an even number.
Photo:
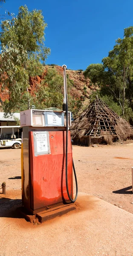
[{"label": "whole old red fuel pump with white top and hose mast", "polygon": [[[63,111],[29,109],[20,112],[23,127],[22,204],[31,214],[72,206],[78,195],[78,184],[72,160],[69,127],[71,113],[67,104],[67,77],[64,68]],[[73,199],[74,170],[76,196]],[[65,208],[65,209],[67,209]],[[69,207],[68,209],[71,209]],[[43,220],[41,217],[40,222]]]}]

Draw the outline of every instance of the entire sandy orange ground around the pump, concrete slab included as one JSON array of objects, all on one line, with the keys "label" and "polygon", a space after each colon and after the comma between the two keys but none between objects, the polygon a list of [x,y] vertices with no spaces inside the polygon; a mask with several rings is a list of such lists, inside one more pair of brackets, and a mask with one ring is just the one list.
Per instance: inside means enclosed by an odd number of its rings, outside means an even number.
[{"label": "entire sandy orange ground around the pump, concrete slab included", "polygon": [[73,146],[73,159],[78,190],[89,195],[79,193],[75,211],[33,226],[13,211],[21,205],[20,149],[0,149],[0,256],[133,256],[133,143]]}]

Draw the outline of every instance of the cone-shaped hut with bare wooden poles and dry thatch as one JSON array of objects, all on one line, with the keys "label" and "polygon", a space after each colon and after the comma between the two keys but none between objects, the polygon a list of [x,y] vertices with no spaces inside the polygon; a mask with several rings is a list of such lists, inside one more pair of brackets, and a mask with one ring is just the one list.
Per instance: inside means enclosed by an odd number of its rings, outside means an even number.
[{"label": "cone-shaped hut with bare wooden poles and dry thatch", "polygon": [[129,123],[101,99],[94,100],[71,126],[72,140],[78,145],[112,144],[116,140],[127,140],[130,134],[133,134],[133,130]]}]

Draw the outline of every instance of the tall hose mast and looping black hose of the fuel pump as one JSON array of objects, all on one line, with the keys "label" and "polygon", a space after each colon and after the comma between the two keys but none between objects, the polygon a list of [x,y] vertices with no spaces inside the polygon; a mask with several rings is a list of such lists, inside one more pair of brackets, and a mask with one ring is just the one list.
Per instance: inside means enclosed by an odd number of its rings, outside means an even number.
[{"label": "tall hose mast and looping black hose of the fuel pump", "polygon": [[74,162],[72,159],[72,167],[73,167],[73,172],[74,172],[74,176],[75,176],[75,183],[76,183],[76,195],[75,195],[75,199],[73,200],[70,197],[69,194],[69,189],[68,189],[68,163],[67,163],[67,154],[68,154],[68,101],[67,101],[67,73],[66,73],[66,65],[62,66],[64,69],[64,100],[63,100],[63,111],[66,111],[66,188],[67,188],[67,195],[69,197],[69,200],[74,203],[77,199],[78,196],[78,182],[77,182],[77,177],[76,177],[76,172],[75,172],[75,166],[74,166]]}]

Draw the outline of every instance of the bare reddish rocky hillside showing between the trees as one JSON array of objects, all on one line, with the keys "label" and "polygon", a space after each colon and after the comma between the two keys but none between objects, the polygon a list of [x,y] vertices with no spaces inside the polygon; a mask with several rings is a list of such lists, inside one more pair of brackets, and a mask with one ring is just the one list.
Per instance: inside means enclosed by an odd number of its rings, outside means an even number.
[{"label": "bare reddish rocky hillside showing between the trees", "polygon": [[[63,68],[61,66],[48,66],[44,67],[43,76],[35,76],[30,78],[30,87],[29,91],[32,95],[34,92],[38,90],[38,86],[40,86],[41,81],[46,76],[46,72],[48,69],[56,69],[59,74],[63,76]],[[78,70],[67,70],[67,77],[73,81],[73,87],[71,94],[76,99],[81,99],[83,101],[83,105],[89,104],[89,95],[96,88],[90,83],[90,79],[85,79],[83,75],[83,71]],[[2,86],[0,87],[0,98],[2,101],[5,99],[9,99],[8,90],[3,90]]]}]

